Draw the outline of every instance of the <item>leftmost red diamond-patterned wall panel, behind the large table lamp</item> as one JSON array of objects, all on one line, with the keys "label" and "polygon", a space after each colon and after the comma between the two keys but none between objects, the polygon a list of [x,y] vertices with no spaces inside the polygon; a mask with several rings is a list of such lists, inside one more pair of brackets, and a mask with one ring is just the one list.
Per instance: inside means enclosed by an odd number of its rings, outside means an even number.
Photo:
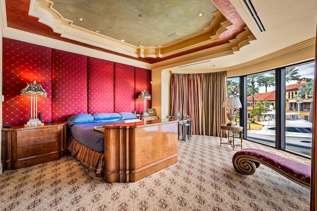
[{"label": "leftmost red diamond-patterned wall panel, behind the large table lamp", "polygon": [[52,118],[52,49],[27,42],[3,38],[3,125],[22,125],[30,119],[31,101],[21,97],[27,83],[42,84],[48,92],[38,99],[43,121]]}]

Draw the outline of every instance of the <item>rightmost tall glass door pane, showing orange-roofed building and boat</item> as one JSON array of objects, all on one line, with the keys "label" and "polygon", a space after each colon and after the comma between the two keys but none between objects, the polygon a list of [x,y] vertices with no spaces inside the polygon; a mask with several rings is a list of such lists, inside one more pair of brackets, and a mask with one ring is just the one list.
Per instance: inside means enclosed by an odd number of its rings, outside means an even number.
[{"label": "rightmost tall glass door pane, showing orange-roofed building and boat", "polygon": [[285,149],[311,156],[314,63],[286,67]]}]

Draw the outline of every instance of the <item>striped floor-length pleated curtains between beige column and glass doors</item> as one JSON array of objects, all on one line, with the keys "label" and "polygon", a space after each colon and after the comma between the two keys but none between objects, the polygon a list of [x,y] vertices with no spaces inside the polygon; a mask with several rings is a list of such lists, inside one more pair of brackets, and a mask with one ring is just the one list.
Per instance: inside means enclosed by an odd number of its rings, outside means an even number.
[{"label": "striped floor-length pleated curtains between beige column and glass doors", "polygon": [[219,136],[226,123],[222,102],[227,90],[226,72],[173,74],[171,79],[171,116],[188,115],[192,133]]}]

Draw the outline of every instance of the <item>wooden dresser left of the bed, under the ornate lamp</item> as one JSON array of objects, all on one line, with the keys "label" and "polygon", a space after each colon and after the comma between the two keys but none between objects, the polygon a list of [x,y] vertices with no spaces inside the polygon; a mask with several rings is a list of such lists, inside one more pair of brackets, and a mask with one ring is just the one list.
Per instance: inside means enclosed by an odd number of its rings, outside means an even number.
[{"label": "wooden dresser left of the bed, under the ornate lamp", "polygon": [[66,155],[66,123],[2,128],[1,150],[3,169],[20,169],[57,160]]}]

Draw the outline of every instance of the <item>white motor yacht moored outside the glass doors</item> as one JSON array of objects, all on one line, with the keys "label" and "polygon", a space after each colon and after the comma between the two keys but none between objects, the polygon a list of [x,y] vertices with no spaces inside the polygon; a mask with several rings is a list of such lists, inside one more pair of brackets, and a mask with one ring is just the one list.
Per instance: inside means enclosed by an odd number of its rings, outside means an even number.
[{"label": "white motor yacht moored outside the glass doors", "polygon": [[[248,138],[275,142],[275,110],[262,113],[260,130],[247,130]],[[299,112],[285,113],[285,143],[288,146],[312,148],[313,124],[304,120]]]}]

